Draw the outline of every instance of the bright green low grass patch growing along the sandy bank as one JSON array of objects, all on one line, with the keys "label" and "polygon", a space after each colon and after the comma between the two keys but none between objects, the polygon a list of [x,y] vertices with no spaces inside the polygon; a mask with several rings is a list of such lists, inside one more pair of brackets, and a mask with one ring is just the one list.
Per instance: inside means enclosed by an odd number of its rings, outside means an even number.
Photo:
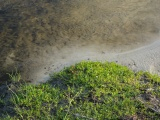
[{"label": "bright green low grass patch growing along the sandy bank", "polygon": [[[14,80],[15,82],[15,80]],[[9,104],[14,114],[5,119],[104,120],[159,119],[151,103],[140,95],[160,98],[160,77],[134,73],[115,63],[81,62],[51,75],[44,84],[13,84]],[[152,88],[153,90],[147,91]],[[0,99],[0,104],[5,104]],[[2,115],[1,115],[2,116]]]}]

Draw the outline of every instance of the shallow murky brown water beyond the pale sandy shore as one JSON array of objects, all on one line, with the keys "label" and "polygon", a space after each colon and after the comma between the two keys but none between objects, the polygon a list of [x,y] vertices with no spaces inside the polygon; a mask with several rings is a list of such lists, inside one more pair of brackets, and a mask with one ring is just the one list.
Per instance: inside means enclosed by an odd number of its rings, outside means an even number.
[{"label": "shallow murky brown water beyond the pale sandy shore", "polygon": [[159,21],[160,0],[1,0],[0,76],[15,67],[27,76],[41,65],[32,60],[66,47],[138,48],[160,38]]}]

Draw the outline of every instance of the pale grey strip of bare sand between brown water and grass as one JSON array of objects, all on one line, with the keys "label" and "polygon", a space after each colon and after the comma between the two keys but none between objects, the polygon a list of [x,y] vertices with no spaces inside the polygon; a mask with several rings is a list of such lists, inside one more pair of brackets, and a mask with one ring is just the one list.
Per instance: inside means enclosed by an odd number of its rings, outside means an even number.
[{"label": "pale grey strip of bare sand between brown water and grass", "polygon": [[83,60],[87,61],[114,61],[118,64],[128,66],[134,71],[144,70],[160,75],[160,40],[134,49],[128,52],[108,52],[104,47],[90,45],[87,47],[66,47],[59,51],[57,56],[52,53],[39,57],[32,63],[40,63],[30,69],[30,78],[33,83],[47,81],[53,72],[58,72],[64,67],[74,65]]}]

